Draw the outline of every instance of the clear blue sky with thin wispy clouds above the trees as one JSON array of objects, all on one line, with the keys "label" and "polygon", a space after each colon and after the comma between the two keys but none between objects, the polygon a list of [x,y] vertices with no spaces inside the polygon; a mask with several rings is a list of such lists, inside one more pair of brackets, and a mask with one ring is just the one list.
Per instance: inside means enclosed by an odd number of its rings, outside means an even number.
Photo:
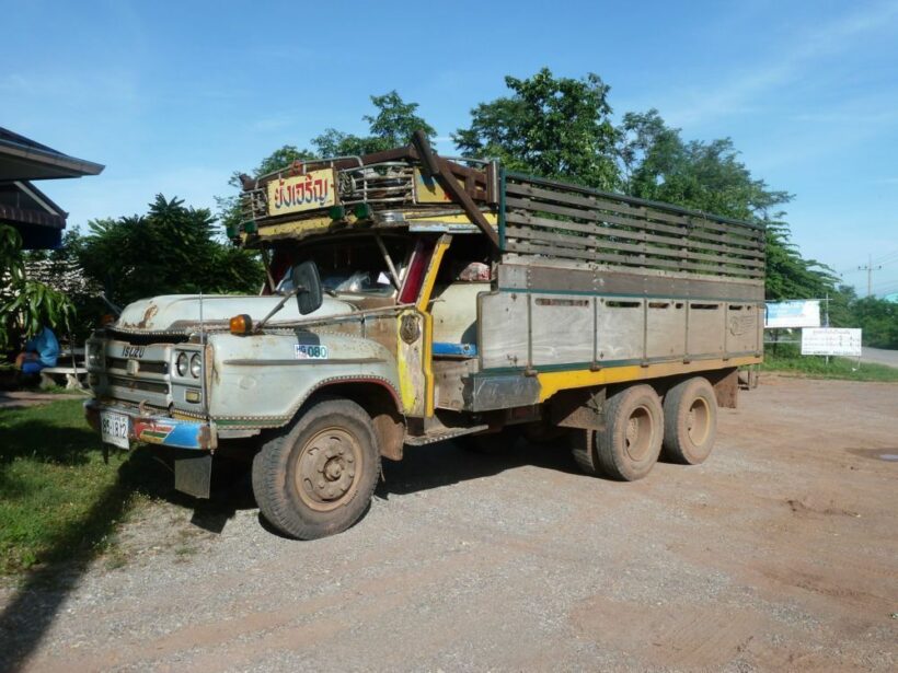
[{"label": "clear blue sky with thin wispy clouds above the trees", "polygon": [[70,224],[156,193],[214,207],[228,176],[368,96],[421,104],[438,147],[506,74],[592,71],[615,115],[656,107],[686,138],[732,137],[795,195],[806,257],[898,292],[898,0],[837,2],[42,2],[0,0],[0,126],[106,164],[43,185]]}]

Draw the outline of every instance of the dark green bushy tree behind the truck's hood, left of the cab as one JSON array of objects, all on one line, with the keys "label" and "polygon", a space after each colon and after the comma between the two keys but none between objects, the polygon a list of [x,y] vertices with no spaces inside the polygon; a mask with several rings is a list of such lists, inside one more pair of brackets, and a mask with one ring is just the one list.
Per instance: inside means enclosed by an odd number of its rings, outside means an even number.
[{"label": "dark green bushy tree behind the truck's hood, left of the cab", "polygon": [[143,216],[94,220],[73,242],[89,278],[119,305],[158,294],[250,292],[264,271],[254,256],[216,239],[205,208],[157,195]]}]

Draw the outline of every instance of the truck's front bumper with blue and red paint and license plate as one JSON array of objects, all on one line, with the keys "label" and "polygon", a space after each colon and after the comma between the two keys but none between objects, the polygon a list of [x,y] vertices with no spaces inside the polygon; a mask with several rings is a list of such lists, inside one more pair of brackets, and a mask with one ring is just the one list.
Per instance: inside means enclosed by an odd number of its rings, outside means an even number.
[{"label": "truck's front bumper with blue and red paint and license plate", "polygon": [[114,411],[127,416],[128,439],[131,441],[200,451],[212,450],[218,443],[215,425],[211,422],[140,414],[130,407],[88,399],[84,403],[84,417],[97,432],[100,432],[101,411]]}]

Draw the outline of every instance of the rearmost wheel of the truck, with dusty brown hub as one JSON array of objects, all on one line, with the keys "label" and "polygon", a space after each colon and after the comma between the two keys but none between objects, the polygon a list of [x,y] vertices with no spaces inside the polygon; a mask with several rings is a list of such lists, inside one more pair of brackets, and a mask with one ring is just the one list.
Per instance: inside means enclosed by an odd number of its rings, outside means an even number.
[{"label": "rearmost wheel of the truck, with dusty brown hub", "polygon": [[664,397],[664,455],[698,465],[717,438],[717,397],[707,379],[695,376],[678,383]]}]

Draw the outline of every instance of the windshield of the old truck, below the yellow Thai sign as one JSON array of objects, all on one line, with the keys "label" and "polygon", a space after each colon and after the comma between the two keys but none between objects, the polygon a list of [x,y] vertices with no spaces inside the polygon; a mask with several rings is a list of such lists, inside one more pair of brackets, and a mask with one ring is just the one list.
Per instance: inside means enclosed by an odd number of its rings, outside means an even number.
[{"label": "windshield of the old truck, below the yellow Thai sign", "polygon": [[[382,241],[396,272],[401,276],[408,254],[408,241],[387,236]],[[293,289],[290,266],[304,259],[314,260],[321,275],[322,288],[332,293],[389,297],[395,292],[390,268],[373,236],[322,242],[299,250],[284,251],[277,257],[277,262],[280,263],[278,266],[283,268],[278,269],[281,276],[277,285],[279,292],[289,292]]]}]

